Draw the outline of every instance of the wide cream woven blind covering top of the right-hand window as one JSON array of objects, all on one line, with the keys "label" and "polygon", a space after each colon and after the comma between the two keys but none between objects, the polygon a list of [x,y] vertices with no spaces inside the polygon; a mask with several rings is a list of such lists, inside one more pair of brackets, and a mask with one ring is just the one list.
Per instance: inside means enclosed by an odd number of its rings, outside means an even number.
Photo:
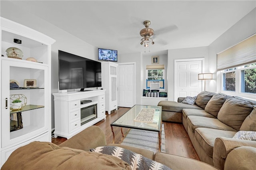
[{"label": "wide cream woven blind covering top of the right-hand window", "polygon": [[256,34],[217,54],[217,71],[256,62]]}]

